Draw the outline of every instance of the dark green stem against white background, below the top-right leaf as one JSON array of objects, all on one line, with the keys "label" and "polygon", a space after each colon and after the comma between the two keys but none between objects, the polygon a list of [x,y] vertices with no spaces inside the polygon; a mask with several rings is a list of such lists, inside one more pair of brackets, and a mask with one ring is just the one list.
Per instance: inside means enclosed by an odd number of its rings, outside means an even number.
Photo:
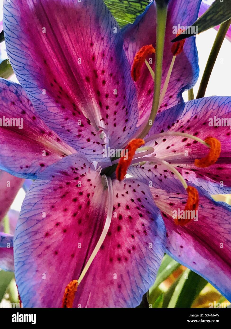
[{"label": "dark green stem against white background, below the top-right leaf", "polygon": [[217,36],[215,38],[212,50],[211,50],[209,58],[208,58],[208,62],[205,66],[205,70],[204,70],[204,73],[203,73],[203,76],[201,79],[200,87],[199,87],[198,93],[196,95],[196,98],[202,98],[205,96],[205,91],[208,86],[208,82],[209,82],[214,64],[217,59],[217,55],[220,51],[220,47],[222,45],[222,42],[225,38],[225,35],[226,35],[228,29],[229,29],[230,24],[231,24],[231,19],[228,19],[226,22],[224,22],[220,25],[220,28],[217,32]]}]

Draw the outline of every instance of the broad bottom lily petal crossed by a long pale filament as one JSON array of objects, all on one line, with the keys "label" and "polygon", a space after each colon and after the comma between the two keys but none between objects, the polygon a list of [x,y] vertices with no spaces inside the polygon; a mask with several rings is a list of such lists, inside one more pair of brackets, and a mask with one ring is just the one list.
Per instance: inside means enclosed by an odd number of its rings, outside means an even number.
[{"label": "broad bottom lily petal crossed by a long pale filament", "polygon": [[[106,218],[103,177],[85,159],[71,155],[43,174],[26,194],[14,238],[25,307],[61,307],[66,285],[78,279]],[[149,188],[133,180],[113,186],[111,226],[78,287],[76,307],[137,306],[164,253],[165,229]]]}]

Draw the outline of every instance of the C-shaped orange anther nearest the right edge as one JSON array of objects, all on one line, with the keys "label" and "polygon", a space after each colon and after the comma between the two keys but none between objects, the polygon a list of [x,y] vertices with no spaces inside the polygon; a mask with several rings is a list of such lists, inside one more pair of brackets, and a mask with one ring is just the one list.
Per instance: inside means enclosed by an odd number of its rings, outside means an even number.
[{"label": "C-shaped orange anther nearest the right edge", "polygon": [[217,159],[220,156],[221,151],[220,141],[215,137],[207,137],[205,139],[205,142],[210,145],[209,154],[204,158],[196,159],[194,161],[194,164],[200,168],[206,168],[209,167],[211,164],[215,164],[215,162],[217,162]]}]

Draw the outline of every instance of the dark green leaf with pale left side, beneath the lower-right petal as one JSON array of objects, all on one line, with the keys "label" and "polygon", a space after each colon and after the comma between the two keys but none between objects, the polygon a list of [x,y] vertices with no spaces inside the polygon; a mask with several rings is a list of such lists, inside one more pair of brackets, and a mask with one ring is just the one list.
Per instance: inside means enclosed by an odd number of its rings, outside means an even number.
[{"label": "dark green leaf with pale left side, beneath the lower-right petal", "polygon": [[170,308],[190,308],[194,299],[207,285],[200,275],[185,270],[168,304]]}]

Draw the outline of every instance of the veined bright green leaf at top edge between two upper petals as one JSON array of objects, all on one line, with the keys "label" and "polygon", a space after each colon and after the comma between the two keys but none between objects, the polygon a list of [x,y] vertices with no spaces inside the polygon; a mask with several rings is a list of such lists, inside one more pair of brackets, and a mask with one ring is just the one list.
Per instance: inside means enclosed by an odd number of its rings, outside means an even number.
[{"label": "veined bright green leaf at top edge between two upper petals", "polygon": [[104,0],[105,5],[122,27],[133,23],[138,15],[143,13],[148,0]]}]

